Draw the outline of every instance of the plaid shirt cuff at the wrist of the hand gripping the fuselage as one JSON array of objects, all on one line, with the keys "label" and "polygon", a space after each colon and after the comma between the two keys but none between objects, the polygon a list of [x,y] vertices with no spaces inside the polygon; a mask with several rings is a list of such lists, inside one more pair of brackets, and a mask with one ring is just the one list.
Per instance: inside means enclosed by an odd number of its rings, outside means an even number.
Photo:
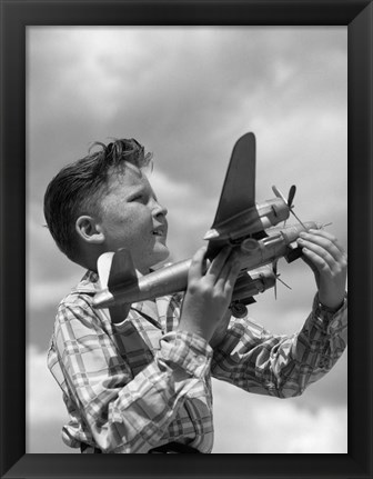
[{"label": "plaid shirt cuff at the wrist of the hand gripping the fuselage", "polygon": [[189,331],[171,331],[160,339],[158,351],[169,367],[179,367],[190,376],[201,378],[211,363],[212,348],[200,336]]}]

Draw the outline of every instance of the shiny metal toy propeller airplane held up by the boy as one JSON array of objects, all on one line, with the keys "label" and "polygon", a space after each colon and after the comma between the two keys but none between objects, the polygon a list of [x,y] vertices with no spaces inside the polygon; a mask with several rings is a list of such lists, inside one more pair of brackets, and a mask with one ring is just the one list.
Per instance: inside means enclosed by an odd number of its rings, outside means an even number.
[{"label": "shiny metal toy propeller airplane held up by the boy", "polygon": [[[275,287],[279,258],[291,262],[301,256],[296,245],[300,232],[320,228],[315,222],[303,223],[295,216],[294,186],[288,200],[275,187],[272,189],[275,198],[255,203],[255,137],[246,133],[233,148],[216,216],[204,236],[209,241],[206,259],[214,258],[226,245],[239,251],[241,271],[230,306],[236,317],[246,313],[245,305],[254,302],[253,296]],[[298,224],[275,228],[290,213]],[[184,291],[190,263],[191,259],[179,261],[139,277],[128,250],[107,252],[98,260],[103,289],[95,295],[93,306],[110,309]]]}]

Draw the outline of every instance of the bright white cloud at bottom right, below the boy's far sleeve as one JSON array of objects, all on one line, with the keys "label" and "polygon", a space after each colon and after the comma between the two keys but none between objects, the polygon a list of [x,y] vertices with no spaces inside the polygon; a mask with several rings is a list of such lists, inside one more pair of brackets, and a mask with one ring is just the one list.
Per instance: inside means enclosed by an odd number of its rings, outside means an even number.
[{"label": "bright white cloud at bottom right, below the boy's far sleeve", "polygon": [[[300,409],[280,400],[213,381],[214,453],[346,453],[345,406]],[[306,395],[306,391],[304,392]]]}]

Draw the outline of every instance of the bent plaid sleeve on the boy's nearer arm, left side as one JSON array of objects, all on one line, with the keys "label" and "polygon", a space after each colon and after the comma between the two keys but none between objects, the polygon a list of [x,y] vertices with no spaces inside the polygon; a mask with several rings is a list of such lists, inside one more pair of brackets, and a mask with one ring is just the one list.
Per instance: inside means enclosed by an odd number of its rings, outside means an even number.
[{"label": "bent plaid sleeve on the boy's nearer arm, left side", "polygon": [[173,331],[133,377],[94,311],[77,305],[60,307],[54,338],[69,393],[103,452],[157,446],[212,357],[202,338]]}]

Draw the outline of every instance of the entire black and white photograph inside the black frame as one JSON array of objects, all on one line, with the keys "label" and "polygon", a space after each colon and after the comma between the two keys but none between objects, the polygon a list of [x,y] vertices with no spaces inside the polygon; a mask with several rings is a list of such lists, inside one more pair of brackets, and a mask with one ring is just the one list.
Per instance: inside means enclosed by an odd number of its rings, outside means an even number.
[{"label": "entire black and white photograph inside the black frame", "polygon": [[26,60],[26,452],[346,455],[347,27]]}]

